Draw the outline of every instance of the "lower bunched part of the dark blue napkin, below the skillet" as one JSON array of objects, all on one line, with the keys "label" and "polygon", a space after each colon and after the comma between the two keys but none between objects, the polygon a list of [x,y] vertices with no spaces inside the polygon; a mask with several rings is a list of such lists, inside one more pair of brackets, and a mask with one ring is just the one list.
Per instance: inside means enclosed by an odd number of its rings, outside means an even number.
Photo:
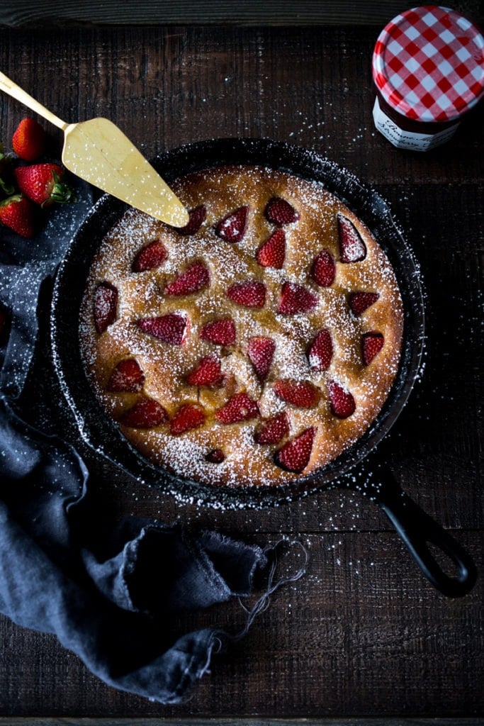
[{"label": "lower bunched part of the dark blue napkin, below the skillet", "polygon": [[248,595],[267,555],[216,532],[134,517],[102,531],[99,555],[89,475],[75,450],[26,425],[5,399],[0,441],[0,611],[57,635],[107,684],[178,702],[230,635],[176,637],[174,616]]}]

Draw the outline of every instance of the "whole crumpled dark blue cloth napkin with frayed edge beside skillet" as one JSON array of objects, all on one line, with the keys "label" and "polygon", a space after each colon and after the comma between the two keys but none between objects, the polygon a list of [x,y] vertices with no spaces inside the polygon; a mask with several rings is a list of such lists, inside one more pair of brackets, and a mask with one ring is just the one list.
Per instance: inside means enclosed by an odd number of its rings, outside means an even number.
[{"label": "whole crumpled dark blue cloth napkin with frayed edge beside skillet", "polygon": [[92,204],[52,213],[35,240],[0,230],[0,612],[54,633],[108,685],[178,703],[218,652],[239,636],[216,627],[179,632],[180,611],[198,611],[274,583],[274,547],[216,531],[186,531],[155,518],[97,521],[81,456],[62,439],[45,355],[52,276]]}]

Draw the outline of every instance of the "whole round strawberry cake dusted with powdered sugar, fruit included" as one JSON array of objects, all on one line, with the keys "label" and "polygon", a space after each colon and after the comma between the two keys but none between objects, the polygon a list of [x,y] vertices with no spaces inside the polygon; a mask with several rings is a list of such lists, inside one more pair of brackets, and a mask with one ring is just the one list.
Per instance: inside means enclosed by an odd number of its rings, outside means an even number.
[{"label": "whole round strawberry cake dusted with powdered sugar, fruit included", "polygon": [[108,414],[184,478],[288,483],[366,431],[398,369],[398,283],[317,183],[259,166],[172,185],[175,229],[130,208],[102,240],[81,348]]}]

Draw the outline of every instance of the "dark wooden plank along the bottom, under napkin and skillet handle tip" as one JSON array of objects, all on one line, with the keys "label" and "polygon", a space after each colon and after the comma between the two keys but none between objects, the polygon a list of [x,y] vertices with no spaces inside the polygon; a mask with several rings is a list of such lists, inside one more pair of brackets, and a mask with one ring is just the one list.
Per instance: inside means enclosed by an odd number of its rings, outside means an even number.
[{"label": "dark wooden plank along the bottom, under napkin and skillet handle tip", "polygon": [[[264,539],[256,538],[258,542]],[[303,538],[310,559],[283,587],[249,634],[216,656],[181,706],[159,706],[99,682],[50,635],[0,619],[0,716],[315,717],[483,712],[483,579],[467,597],[432,590],[390,533]],[[483,566],[484,534],[463,544]],[[280,574],[298,566],[298,550]],[[249,603],[253,602],[253,598]],[[234,601],[173,621],[237,632],[245,615]]]}]

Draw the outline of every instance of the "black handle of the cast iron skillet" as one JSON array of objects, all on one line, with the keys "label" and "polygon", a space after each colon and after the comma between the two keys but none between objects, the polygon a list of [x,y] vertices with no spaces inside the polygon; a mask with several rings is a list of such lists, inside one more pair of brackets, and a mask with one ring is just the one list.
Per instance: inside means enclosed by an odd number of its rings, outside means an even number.
[{"label": "black handle of the cast iron skillet", "polygon": [[[385,484],[382,484],[375,497],[376,502],[398,531],[424,576],[443,595],[466,595],[477,579],[472,559],[445,529],[400,489],[390,472],[387,471],[386,474]],[[432,555],[430,544],[447,555],[457,570],[456,575],[447,574],[443,570]]]}]

